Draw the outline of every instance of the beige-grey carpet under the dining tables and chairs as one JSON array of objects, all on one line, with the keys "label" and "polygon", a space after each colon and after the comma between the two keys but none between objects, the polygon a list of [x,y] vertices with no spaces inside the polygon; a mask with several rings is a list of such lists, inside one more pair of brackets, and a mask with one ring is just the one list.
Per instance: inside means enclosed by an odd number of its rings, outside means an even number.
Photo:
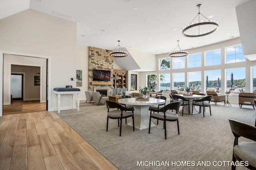
[{"label": "beige-grey carpet under the dining tables and chairs", "polygon": [[[212,103],[212,116],[209,108],[206,108],[205,117],[202,114],[184,114],[182,117],[179,113],[180,135],[177,123],[167,122],[166,140],[163,122],[156,125],[154,119],[152,122],[156,127],[151,128],[150,134],[148,128],[133,132],[132,127],[123,121],[122,136],[119,136],[117,120],[113,119],[109,120],[106,132],[106,105],[81,101],[79,113],[75,109],[61,111],[60,117],[119,170],[230,170],[228,161],[232,161],[234,136],[228,119],[254,125],[256,110],[252,106],[240,109],[238,105],[223,107],[223,104],[215,106]],[[239,138],[239,141],[249,140]],[[144,166],[138,164],[141,161],[144,161]],[[159,166],[158,161],[168,162],[169,165]],[[236,169],[247,168],[240,166]]]}]

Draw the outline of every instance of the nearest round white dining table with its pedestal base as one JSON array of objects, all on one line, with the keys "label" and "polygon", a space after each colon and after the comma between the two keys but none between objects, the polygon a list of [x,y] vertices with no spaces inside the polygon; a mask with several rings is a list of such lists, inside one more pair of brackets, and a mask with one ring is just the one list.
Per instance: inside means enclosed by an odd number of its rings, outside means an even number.
[{"label": "nearest round white dining table with its pedestal base", "polygon": [[[133,105],[134,127],[139,130],[142,130],[149,127],[148,109],[150,105],[164,104],[165,100],[149,98],[148,101],[140,101],[140,100],[136,100],[136,98],[123,98],[123,99],[118,99],[118,103]],[[130,121],[128,125],[132,126],[132,121]],[[155,125],[151,123],[150,127],[154,127],[154,126]]]}]

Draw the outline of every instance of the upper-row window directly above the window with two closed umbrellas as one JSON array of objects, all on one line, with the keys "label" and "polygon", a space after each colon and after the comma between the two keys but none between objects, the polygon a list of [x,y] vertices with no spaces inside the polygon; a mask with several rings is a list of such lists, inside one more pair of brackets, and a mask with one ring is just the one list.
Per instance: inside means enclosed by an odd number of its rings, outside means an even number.
[{"label": "upper-row window directly above the window with two closed umbrellas", "polygon": [[205,65],[219,65],[221,63],[220,49],[205,52]]}]

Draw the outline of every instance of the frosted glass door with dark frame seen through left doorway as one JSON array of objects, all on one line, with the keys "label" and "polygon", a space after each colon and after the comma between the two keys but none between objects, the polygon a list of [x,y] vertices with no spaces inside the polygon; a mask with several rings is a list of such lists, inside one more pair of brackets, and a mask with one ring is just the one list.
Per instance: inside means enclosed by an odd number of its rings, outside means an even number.
[{"label": "frosted glass door with dark frame seen through left doorway", "polygon": [[11,74],[11,96],[13,101],[23,100],[23,74]]}]

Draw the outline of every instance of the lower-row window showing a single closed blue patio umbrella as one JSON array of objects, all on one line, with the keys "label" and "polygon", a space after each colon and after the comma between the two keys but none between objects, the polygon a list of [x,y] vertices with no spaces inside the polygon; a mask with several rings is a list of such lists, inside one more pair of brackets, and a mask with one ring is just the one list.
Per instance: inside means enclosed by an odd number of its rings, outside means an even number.
[{"label": "lower-row window showing a single closed blue patio umbrella", "polygon": [[[236,68],[236,69],[226,69],[227,73],[227,84],[226,90],[234,89],[243,89],[245,91],[245,68]],[[231,88],[231,74],[233,74],[233,87]]]}]

